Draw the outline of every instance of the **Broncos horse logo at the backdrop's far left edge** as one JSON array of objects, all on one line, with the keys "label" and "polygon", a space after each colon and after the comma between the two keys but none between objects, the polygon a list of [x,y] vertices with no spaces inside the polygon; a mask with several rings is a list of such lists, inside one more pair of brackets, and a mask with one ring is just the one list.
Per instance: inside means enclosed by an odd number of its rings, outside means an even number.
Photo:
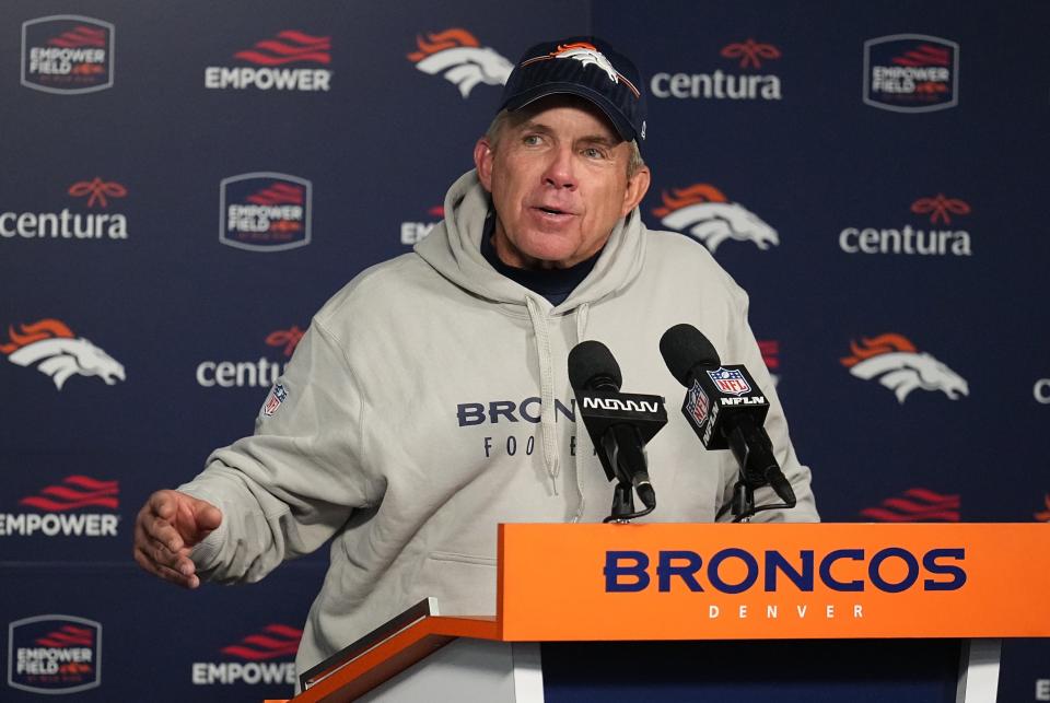
[{"label": "Broncos horse logo at the backdrop's far left edge", "polygon": [[73,374],[98,376],[108,386],[125,379],[119,362],[83,337],[74,337],[61,320],[48,318],[21,327],[21,333],[8,328],[11,343],[0,344],[0,352],[19,366],[39,363],[37,368],[50,376],[59,390]]}]

